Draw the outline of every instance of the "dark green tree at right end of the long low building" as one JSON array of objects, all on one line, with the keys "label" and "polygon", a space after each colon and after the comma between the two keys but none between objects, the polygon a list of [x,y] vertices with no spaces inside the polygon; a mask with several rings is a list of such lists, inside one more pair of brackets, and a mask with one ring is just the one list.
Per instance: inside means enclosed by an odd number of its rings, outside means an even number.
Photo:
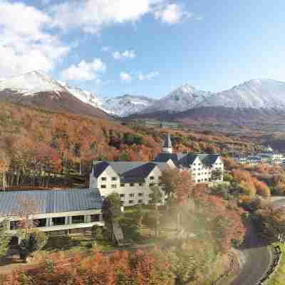
[{"label": "dark green tree at right end of the long low building", "polygon": [[102,205],[102,214],[103,219],[105,222],[105,227],[108,229],[108,232],[110,233],[111,239],[114,239],[113,237],[113,223],[118,222],[119,219],[122,217],[121,212],[121,201],[120,201],[120,195],[118,193],[113,192],[108,197],[106,197],[103,201]]}]

